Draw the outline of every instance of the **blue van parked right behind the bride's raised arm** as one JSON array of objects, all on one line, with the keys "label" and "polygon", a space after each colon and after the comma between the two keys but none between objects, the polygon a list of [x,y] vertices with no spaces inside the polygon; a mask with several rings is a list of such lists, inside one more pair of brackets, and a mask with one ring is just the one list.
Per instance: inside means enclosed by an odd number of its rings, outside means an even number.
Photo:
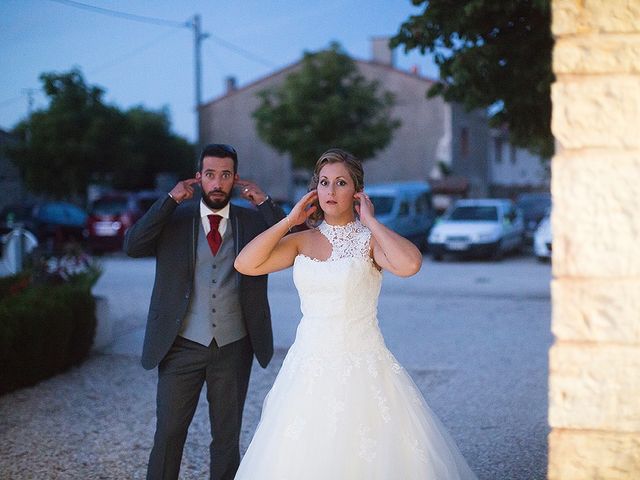
[{"label": "blue van parked right behind the bride's raised arm", "polygon": [[426,250],[427,235],[435,220],[427,182],[371,184],[365,192],[380,223]]}]

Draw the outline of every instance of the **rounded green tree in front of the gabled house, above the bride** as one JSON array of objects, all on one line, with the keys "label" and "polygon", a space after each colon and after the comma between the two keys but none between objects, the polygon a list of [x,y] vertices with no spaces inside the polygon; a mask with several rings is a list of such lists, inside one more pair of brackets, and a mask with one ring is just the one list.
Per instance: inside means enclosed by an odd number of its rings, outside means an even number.
[{"label": "rounded green tree in front of the gabled house, above the bride", "polygon": [[330,147],[366,160],[400,126],[390,118],[393,96],[378,89],[337,43],[305,52],[298,71],[259,93],[261,104],[253,113],[258,134],[280,153],[288,152],[295,167],[313,168]]}]

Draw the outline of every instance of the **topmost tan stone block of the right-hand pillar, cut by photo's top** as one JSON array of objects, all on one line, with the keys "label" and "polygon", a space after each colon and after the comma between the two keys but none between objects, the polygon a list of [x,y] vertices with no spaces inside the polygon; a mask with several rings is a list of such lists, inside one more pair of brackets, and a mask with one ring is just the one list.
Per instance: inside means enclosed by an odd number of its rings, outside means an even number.
[{"label": "topmost tan stone block of the right-hand pillar, cut by photo's top", "polygon": [[638,0],[553,0],[554,35],[640,31]]}]

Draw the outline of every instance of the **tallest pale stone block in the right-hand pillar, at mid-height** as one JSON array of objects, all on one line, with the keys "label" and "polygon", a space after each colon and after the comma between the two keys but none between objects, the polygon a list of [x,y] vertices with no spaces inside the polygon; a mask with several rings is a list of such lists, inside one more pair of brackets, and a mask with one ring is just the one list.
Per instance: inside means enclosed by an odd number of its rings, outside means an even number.
[{"label": "tallest pale stone block in the right-hand pillar, at mid-height", "polygon": [[552,161],[553,274],[640,277],[640,150],[564,151]]}]

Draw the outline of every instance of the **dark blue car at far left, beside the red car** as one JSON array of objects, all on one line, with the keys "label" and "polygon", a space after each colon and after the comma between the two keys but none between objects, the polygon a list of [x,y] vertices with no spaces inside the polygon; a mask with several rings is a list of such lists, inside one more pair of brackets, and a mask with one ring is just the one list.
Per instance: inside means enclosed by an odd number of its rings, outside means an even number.
[{"label": "dark blue car at far left, beside the red car", "polygon": [[67,242],[82,242],[87,213],[69,202],[9,205],[0,212],[0,231],[7,233],[20,224],[49,250]]}]

